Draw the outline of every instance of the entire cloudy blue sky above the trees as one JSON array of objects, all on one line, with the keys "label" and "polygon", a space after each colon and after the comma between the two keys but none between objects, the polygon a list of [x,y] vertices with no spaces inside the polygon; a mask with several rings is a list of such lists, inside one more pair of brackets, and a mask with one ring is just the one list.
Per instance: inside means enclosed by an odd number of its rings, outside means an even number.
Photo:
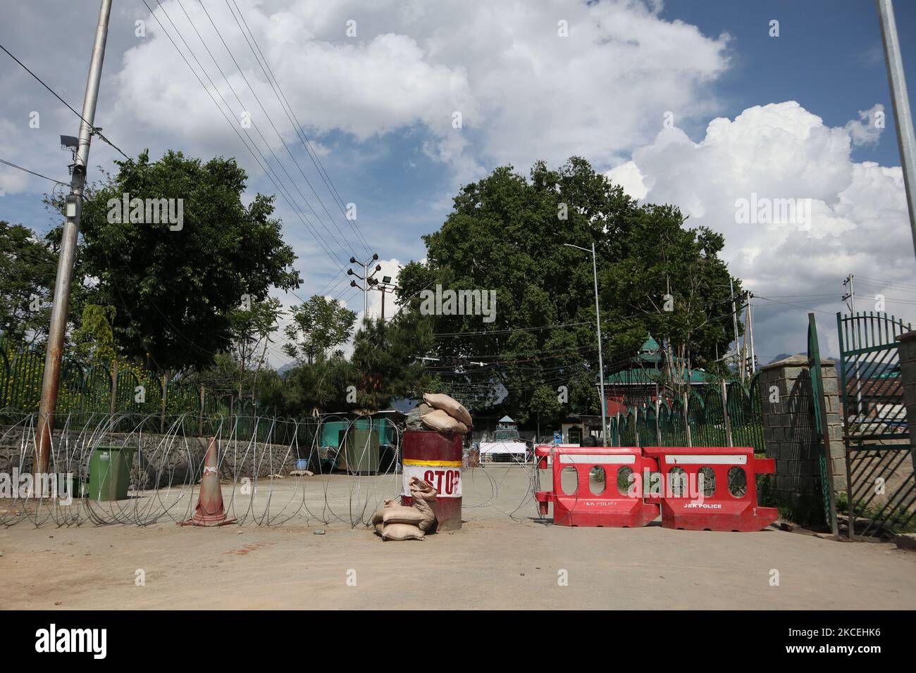
[{"label": "entire cloudy blue sky above the trees", "polygon": [[[0,0],[0,44],[78,110],[98,5]],[[916,91],[916,3],[895,9]],[[0,91],[0,158],[68,181],[58,136],[78,118],[2,52]],[[725,235],[725,261],[756,295],[761,363],[805,351],[809,310],[822,353],[838,353],[847,274],[856,309],[882,295],[916,320],[871,0],[114,0],[95,124],[128,155],[236,157],[249,198],[279,188],[296,295],[360,313],[351,256],[376,253],[378,276],[397,277],[461,185],[580,155]],[[93,140],[90,179],[117,157]],[[0,167],[0,218],[46,231],[52,187]],[[758,211],[787,200],[789,218]],[[370,293],[371,315],[380,301]],[[271,364],[288,360],[272,348]]]}]

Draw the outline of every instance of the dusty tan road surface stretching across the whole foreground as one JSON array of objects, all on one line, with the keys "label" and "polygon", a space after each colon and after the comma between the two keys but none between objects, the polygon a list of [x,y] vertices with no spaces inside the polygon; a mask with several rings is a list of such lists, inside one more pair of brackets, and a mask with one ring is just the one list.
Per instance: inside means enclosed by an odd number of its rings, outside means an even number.
[{"label": "dusty tan road surface stretching across the whole foreground", "polygon": [[[341,485],[346,477],[327,479],[338,489],[335,497],[349,488]],[[527,480],[518,468],[465,480],[465,504],[485,506],[465,510],[461,531],[422,542],[383,543],[341,521],[210,529],[170,522],[62,528],[23,523],[0,530],[0,607],[916,606],[913,552],[775,529],[545,526],[525,503]],[[321,490],[313,490],[309,497],[318,498]],[[525,504],[509,518],[519,503]],[[321,510],[318,500],[312,505]],[[319,527],[325,535],[314,534]]]}]

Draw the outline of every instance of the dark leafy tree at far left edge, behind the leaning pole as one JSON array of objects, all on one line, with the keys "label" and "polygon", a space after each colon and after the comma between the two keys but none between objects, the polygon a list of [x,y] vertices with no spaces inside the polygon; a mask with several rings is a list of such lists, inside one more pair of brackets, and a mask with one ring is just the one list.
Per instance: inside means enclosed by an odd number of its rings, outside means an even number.
[{"label": "dark leafy tree at far left edge, behind the leaning pole", "polygon": [[51,241],[0,220],[0,334],[16,343],[47,335],[56,273]]}]

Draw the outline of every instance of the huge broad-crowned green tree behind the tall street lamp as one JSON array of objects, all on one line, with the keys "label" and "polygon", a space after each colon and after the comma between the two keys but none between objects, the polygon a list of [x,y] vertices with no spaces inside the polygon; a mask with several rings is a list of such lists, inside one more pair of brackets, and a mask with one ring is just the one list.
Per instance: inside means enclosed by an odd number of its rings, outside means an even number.
[{"label": "huge broad-crowned green tree behind the tall street lamp", "polygon": [[[580,157],[559,170],[538,162],[529,179],[496,168],[465,185],[442,228],[423,237],[429,261],[401,271],[398,302],[419,312],[436,286],[495,291],[492,321],[431,316],[443,388],[469,408],[522,423],[600,414],[592,255],[566,244],[594,244],[605,375],[633,366],[650,335],[672,361],[698,367],[731,341],[729,275],[721,236],[683,222],[676,207],[638,204]],[[548,393],[560,386],[567,401],[556,407]],[[484,400],[481,390],[503,395]]]}]

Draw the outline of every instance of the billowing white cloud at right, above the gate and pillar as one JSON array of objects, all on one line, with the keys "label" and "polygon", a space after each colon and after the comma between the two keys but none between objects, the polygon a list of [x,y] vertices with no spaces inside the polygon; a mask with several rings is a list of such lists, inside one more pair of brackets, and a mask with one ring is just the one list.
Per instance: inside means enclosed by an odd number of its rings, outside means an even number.
[{"label": "billowing white cloud at right, above the gate and pillar", "polygon": [[[804,344],[804,307],[841,309],[846,274],[870,278],[857,288],[860,310],[874,309],[871,298],[882,290],[906,299],[905,289],[888,288],[912,283],[902,171],[850,156],[853,143],[870,133],[858,122],[826,126],[799,103],[772,103],[748,108],[734,120],[714,119],[697,143],[678,128],[663,130],[606,175],[631,196],[678,204],[690,215],[689,226],[724,233],[732,273],[761,298],[784,302],[755,300],[758,351],[795,352]],[[810,221],[741,223],[736,202],[752,198],[807,200]],[[909,304],[888,307],[914,317]],[[826,323],[821,336],[829,336],[824,341],[836,354],[834,320],[817,315]],[[759,344],[766,344],[764,350]]]}]

